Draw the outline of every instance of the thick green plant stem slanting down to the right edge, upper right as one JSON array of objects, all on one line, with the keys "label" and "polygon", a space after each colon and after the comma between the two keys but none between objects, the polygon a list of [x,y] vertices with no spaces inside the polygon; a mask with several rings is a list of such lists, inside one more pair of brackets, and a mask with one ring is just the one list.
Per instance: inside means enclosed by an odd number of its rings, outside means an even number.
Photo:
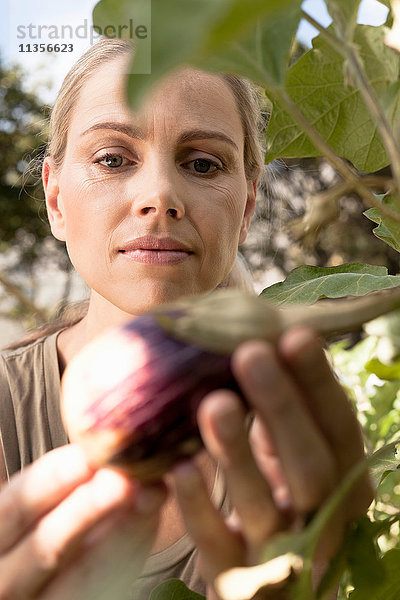
[{"label": "thick green plant stem slanting down to the right edge, upper right", "polygon": [[318,21],[304,10],[301,11],[302,16],[306,21],[315,27],[326,41],[334,48],[350,67],[352,74],[357,81],[358,89],[364,99],[364,102],[371,113],[371,116],[376,124],[376,127],[381,136],[383,145],[391,163],[393,177],[396,183],[397,193],[400,193],[400,149],[386,114],[375,95],[375,92],[370,85],[365,71],[362,67],[360,58],[354,46],[347,43],[345,40],[340,40],[331,31],[325,29]]}]

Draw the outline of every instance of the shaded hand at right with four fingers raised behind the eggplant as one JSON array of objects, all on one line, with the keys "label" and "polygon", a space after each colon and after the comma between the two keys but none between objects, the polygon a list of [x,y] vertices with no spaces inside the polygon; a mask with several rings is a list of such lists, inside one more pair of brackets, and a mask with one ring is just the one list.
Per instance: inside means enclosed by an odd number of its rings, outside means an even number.
[{"label": "shaded hand at right with four fingers raised behind the eggplant", "polygon": [[[174,471],[208,583],[225,569],[256,562],[273,534],[304,523],[364,454],[352,407],[311,330],[287,332],[277,350],[247,342],[233,355],[232,368],[255,414],[250,435],[243,405],[230,391],[209,394],[198,415],[205,446],[225,472],[229,518],[211,504],[192,463]],[[345,524],[371,500],[365,477],[326,531],[317,563],[334,553]]]}]

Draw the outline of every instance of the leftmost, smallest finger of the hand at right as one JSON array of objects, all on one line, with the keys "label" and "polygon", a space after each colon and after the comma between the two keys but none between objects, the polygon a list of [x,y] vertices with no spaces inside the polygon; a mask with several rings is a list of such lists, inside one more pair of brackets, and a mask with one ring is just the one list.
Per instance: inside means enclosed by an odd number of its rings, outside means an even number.
[{"label": "leftmost, smallest finger of the hand at right", "polygon": [[205,581],[211,583],[221,571],[243,565],[244,544],[212,504],[197,467],[180,463],[171,471],[171,479],[186,528],[199,550]]}]

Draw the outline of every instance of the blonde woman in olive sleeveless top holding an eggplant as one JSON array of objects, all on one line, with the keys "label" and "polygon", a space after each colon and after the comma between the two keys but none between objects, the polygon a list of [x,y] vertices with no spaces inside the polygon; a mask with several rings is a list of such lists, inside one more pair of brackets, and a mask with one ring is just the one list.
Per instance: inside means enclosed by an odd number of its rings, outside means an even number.
[{"label": "blonde woman in olive sleeveless top holding an eggplant", "polygon": [[[147,600],[175,576],[214,600],[218,573],[257,560],[272,534],[317,509],[363,455],[353,412],[306,329],[284,335],[278,351],[261,342],[237,350],[233,369],[256,413],[250,438],[239,399],[210,394],[198,415],[207,451],[173,469],[167,486],[94,472],[67,445],[57,387],[65,366],[106,327],[229,284],[263,167],[245,82],[185,67],[134,114],[123,100],[129,60],[126,42],[96,44],[52,114],[49,221],[90,300],[76,323],[3,355],[4,478],[34,464],[0,494],[0,598],[86,600],[106,589],[106,598]],[[365,480],[321,556],[370,497]]]}]

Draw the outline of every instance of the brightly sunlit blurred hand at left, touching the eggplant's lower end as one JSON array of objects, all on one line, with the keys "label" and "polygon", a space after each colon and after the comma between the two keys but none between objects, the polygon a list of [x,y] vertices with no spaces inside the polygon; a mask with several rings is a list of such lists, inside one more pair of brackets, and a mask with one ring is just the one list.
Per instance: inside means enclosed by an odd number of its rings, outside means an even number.
[{"label": "brightly sunlit blurred hand at left, touching the eggplant's lower end", "polygon": [[44,455],[0,492],[0,598],[125,597],[164,497],[162,486],[94,472],[72,444]]}]

